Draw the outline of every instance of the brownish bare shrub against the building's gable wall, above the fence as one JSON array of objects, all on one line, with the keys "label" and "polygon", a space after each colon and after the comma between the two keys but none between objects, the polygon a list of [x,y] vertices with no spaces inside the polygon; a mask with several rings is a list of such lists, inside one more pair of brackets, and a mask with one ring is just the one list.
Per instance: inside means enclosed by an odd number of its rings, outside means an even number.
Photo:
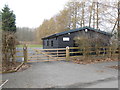
[{"label": "brownish bare shrub against the building's gable wall, above the fence", "polygon": [[[94,37],[94,38],[92,38]],[[80,47],[99,47],[109,45],[108,39],[102,37],[101,35],[94,35],[90,37],[89,35],[79,35],[74,38],[75,43]]]}]

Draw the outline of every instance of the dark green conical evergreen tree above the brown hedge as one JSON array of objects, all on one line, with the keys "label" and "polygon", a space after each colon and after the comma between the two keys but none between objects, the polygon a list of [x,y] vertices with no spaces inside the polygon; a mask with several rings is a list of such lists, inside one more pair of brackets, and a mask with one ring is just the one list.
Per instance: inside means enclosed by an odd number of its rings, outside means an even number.
[{"label": "dark green conical evergreen tree above the brown hedge", "polygon": [[2,30],[16,32],[16,16],[13,11],[10,10],[8,5],[2,9]]}]

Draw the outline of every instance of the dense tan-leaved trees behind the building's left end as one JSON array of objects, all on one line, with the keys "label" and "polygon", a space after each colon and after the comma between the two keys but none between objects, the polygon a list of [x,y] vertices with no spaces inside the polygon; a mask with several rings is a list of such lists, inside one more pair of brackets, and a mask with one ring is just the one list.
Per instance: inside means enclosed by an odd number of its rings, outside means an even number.
[{"label": "dense tan-leaved trees behind the building's left end", "polygon": [[41,38],[70,29],[70,17],[68,9],[60,11],[56,16],[49,20],[44,20],[36,30],[36,39],[42,43]]}]

